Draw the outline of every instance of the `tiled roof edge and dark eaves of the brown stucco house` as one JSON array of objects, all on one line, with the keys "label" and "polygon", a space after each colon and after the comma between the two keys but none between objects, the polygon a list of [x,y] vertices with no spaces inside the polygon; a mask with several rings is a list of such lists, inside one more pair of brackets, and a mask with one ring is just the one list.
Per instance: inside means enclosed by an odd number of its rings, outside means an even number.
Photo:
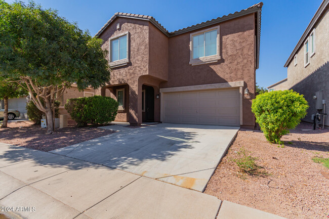
[{"label": "tiled roof edge and dark eaves of the brown stucco house", "polygon": [[138,15],[138,14],[129,14],[129,13],[121,13],[117,12],[115,13],[110,20],[106,22],[106,24],[95,34],[95,36],[99,36],[114,20],[118,17],[124,17],[124,18],[131,18],[131,19],[139,19],[139,20],[146,20],[152,23],[155,27],[157,27],[163,34],[165,34],[168,37],[176,36],[182,33],[186,33],[189,31],[197,30],[203,27],[208,27],[213,24],[218,24],[227,20],[231,20],[234,18],[238,18],[244,15],[252,14],[252,13],[257,13],[255,16],[255,23],[256,23],[256,36],[257,36],[257,41],[256,41],[256,54],[257,54],[257,65],[256,68],[259,67],[259,51],[260,51],[260,36],[261,36],[261,12],[262,12],[262,7],[263,3],[260,2],[258,4],[255,4],[248,9],[241,10],[239,12],[234,12],[233,14],[228,14],[222,17],[218,17],[216,19],[202,22],[193,26],[189,26],[183,29],[179,29],[173,32],[169,32],[165,27],[163,27],[159,22],[157,22],[153,17],[147,16],[147,15]]}]

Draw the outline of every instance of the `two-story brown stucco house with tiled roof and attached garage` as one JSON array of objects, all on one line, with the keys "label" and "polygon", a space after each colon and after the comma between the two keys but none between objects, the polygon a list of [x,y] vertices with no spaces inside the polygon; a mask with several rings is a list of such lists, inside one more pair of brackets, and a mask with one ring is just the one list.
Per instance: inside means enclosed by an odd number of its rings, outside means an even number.
[{"label": "two-story brown stucco house with tiled roof and attached garage", "polygon": [[174,32],[150,16],[116,13],[96,34],[112,68],[97,94],[115,98],[115,120],[131,125],[254,128],[262,6]]}]

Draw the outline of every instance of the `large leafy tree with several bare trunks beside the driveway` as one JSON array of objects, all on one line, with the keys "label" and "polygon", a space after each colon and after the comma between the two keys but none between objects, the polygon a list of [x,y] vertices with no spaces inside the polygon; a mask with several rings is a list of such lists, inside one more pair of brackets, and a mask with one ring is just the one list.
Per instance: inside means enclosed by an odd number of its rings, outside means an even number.
[{"label": "large leafy tree with several bare trunks beside the driveway", "polygon": [[52,133],[51,104],[72,83],[81,91],[109,80],[102,39],[33,2],[0,0],[0,17],[0,72],[26,85],[33,103],[47,116],[47,133]]}]

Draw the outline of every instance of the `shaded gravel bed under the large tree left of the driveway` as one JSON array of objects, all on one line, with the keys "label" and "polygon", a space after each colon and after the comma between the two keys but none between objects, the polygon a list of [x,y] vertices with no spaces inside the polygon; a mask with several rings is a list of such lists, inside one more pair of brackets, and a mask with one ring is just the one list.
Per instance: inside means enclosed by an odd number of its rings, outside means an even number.
[{"label": "shaded gravel bed under the large tree left of the driveway", "polygon": [[[70,124],[72,125],[72,124]],[[80,142],[112,134],[111,130],[97,127],[57,128],[46,135],[46,130],[31,121],[8,122],[8,128],[0,128],[0,142],[40,151],[51,151]]]}]

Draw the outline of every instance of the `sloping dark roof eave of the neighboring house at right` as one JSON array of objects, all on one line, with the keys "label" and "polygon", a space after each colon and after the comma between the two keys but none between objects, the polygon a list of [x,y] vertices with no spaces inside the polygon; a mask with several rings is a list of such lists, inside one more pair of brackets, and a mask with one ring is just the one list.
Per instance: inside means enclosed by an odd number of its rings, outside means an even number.
[{"label": "sloping dark roof eave of the neighboring house at right", "polygon": [[325,9],[327,8],[328,3],[329,3],[329,0],[323,0],[320,7],[315,12],[315,15],[311,19],[311,22],[306,27],[306,30],[304,31],[302,37],[297,42],[297,45],[296,45],[295,49],[293,50],[292,54],[289,56],[288,60],[285,62],[284,67],[287,67],[289,65],[289,63],[292,61],[292,59],[294,58],[294,56],[297,53],[297,51],[299,50],[299,48],[303,45],[304,40],[310,34],[310,32],[313,30],[313,27],[317,23],[318,19],[326,11]]}]

